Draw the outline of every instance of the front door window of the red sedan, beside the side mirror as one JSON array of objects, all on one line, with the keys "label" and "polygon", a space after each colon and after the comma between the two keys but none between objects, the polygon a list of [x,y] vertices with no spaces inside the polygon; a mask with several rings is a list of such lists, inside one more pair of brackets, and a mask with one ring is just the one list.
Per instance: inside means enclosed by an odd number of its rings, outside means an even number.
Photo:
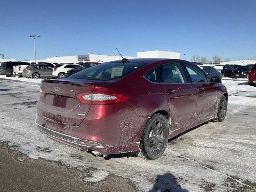
[{"label": "front door window of the red sedan, beside the side mirror", "polygon": [[188,71],[193,83],[207,82],[204,72],[202,72],[200,69],[187,63],[184,63],[184,66],[186,67],[186,70]]}]

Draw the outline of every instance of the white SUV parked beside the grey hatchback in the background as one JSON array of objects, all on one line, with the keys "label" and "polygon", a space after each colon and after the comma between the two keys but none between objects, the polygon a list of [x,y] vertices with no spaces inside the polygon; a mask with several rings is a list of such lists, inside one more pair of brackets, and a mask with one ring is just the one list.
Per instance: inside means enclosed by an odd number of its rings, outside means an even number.
[{"label": "white SUV parked beside the grey hatchback in the background", "polygon": [[58,78],[65,77],[68,70],[76,69],[78,67],[80,67],[80,65],[74,64],[74,63],[60,63],[60,64],[57,64],[52,69],[52,76],[53,77],[58,77]]}]

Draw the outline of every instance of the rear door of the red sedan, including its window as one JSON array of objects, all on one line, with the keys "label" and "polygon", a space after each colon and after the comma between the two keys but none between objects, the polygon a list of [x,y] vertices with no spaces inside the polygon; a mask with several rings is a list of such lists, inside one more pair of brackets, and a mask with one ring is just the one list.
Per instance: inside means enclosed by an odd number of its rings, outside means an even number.
[{"label": "rear door of the red sedan, including its window", "polygon": [[180,63],[164,64],[160,68],[162,95],[169,105],[175,128],[191,128],[196,114],[196,88],[189,82]]}]

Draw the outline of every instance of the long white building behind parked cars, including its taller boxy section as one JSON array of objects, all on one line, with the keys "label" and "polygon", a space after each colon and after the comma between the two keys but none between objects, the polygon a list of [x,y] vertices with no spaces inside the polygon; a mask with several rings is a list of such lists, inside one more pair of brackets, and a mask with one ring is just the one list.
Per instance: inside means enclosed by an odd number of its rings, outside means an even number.
[{"label": "long white building behind parked cars, including its taller boxy section", "polygon": [[[123,56],[127,59],[132,58],[170,58],[179,59],[180,53],[178,52],[168,52],[168,51],[144,51],[137,52],[137,57],[133,56]],[[121,56],[113,55],[97,55],[97,54],[85,54],[85,55],[74,55],[74,56],[63,56],[63,57],[48,57],[46,59],[36,60],[37,62],[51,62],[51,63],[84,63],[84,62],[109,62],[114,60],[121,60]],[[29,60],[26,62],[34,62],[34,60]]]}]

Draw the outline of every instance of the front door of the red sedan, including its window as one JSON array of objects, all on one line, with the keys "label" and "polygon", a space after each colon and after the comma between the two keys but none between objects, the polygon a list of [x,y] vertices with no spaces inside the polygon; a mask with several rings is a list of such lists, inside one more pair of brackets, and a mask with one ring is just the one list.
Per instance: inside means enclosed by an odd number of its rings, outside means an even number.
[{"label": "front door of the red sedan, including its window", "polygon": [[217,90],[211,84],[210,78],[198,67],[184,63],[184,68],[189,75],[190,81],[196,88],[197,105],[196,105],[196,120],[208,120],[214,115],[217,107]]}]

